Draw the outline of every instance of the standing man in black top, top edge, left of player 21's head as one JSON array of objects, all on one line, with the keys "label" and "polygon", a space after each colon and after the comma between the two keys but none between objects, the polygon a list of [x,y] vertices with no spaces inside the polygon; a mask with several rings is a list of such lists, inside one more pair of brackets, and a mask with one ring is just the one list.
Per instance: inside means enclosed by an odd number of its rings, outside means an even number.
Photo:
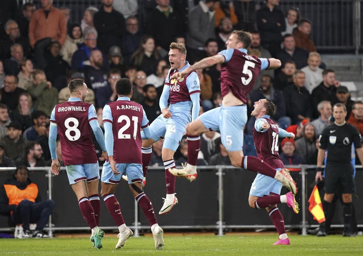
[{"label": "standing man in black top, top edge, left of player 21's head", "polygon": [[125,18],[112,7],[113,0],[102,0],[102,7],[94,14],[93,22],[98,33],[98,47],[107,53],[111,46],[121,47],[125,34]]}]

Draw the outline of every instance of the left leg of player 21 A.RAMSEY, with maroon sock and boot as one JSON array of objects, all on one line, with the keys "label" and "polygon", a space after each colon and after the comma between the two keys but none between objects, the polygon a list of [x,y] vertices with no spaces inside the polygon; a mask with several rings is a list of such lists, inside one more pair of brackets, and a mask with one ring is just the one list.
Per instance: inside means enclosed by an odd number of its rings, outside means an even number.
[{"label": "left leg of player 21 A.RAMSEY, with maroon sock and boot", "polygon": [[123,220],[120,204],[114,195],[116,188],[117,184],[101,183],[101,196],[119,230],[119,234],[117,235],[118,243],[115,247],[115,249],[119,249],[125,245],[126,241],[131,238],[134,233],[126,226],[125,221]]}]

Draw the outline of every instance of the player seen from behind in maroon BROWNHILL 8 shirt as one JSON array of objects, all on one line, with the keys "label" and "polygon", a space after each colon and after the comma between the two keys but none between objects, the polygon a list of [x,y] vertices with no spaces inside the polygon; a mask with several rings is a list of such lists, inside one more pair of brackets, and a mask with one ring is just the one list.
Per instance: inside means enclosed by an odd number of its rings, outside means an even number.
[{"label": "player seen from behind in maroon BROWNHILL 8 shirt", "polygon": [[86,103],[87,85],[82,79],[74,79],[68,85],[70,98],[57,104],[50,116],[49,149],[52,156],[52,173],[58,175],[57,133],[61,140],[62,157],[66,165],[69,184],[78,199],[83,218],[91,228],[91,243],[102,248],[104,232],[98,228],[101,203],[98,196],[99,167],[90,127],[102,148],[103,161],[107,157],[105,139],[98,125],[96,110]]}]

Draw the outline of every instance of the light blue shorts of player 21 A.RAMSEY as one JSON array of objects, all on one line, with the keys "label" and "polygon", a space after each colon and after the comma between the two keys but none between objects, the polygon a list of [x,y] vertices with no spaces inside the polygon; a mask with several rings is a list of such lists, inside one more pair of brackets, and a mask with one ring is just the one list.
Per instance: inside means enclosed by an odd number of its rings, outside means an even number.
[{"label": "light blue shorts of player 21 A.RAMSEY", "polygon": [[117,171],[120,173],[115,175],[112,172],[111,165],[109,161],[105,161],[102,167],[101,181],[110,184],[118,184],[121,180],[122,175],[127,175],[127,180],[129,184],[134,182],[142,182],[144,174],[142,172],[142,165],[135,163],[126,164],[116,164]]}]

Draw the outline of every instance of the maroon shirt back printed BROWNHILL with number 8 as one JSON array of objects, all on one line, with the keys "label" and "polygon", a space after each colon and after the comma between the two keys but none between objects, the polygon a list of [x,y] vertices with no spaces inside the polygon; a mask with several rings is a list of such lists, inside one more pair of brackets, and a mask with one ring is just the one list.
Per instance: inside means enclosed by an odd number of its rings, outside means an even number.
[{"label": "maroon shirt back printed BROWNHILL with number 8", "polygon": [[97,163],[89,125],[91,120],[97,120],[97,116],[94,113],[94,117],[89,119],[90,106],[92,105],[79,100],[66,101],[54,108],[65,165]]}]

